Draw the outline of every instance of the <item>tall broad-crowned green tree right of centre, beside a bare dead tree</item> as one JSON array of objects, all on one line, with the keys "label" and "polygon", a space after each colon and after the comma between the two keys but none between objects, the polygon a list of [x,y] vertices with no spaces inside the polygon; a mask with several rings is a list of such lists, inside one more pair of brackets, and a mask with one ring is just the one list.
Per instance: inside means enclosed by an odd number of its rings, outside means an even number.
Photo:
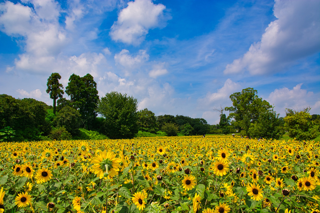
[{"label": "tall broad-crowned green tree right of centre, beside a bare dead tree", "polygon": [[228,110],[229,118],[234,118],[236,126],[240,126],[243,134],[249,136],[249,127],[251,123],[258,120],[260,113],[266,112],[272,106],[257,95],[257,90],[245,88],[242,92],[236,92],[230,95],[233,103],[232,107],[225,107]]}]

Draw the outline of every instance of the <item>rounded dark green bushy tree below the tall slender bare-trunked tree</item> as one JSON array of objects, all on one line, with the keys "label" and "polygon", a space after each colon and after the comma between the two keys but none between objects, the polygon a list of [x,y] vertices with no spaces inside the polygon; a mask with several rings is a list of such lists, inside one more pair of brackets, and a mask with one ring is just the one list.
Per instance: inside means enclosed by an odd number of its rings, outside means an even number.
[{"label": "rounded dark green bushy tree below the tall slender bare-trunked tree", "polygon": [[72,135],[79,133],[81,126],[81,117],[77,110],[72,107],[63,107],[56,115],[53,120],[53,124],[56,127],[65,127],[66,130]]}]

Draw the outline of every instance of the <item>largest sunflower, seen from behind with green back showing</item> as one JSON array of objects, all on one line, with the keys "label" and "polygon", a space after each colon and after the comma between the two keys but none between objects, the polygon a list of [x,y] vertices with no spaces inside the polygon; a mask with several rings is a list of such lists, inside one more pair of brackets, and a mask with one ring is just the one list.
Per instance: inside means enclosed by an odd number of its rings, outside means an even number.
[{"label": "largest sunflower, seen from behind with green back showing", "polygon": [[92,163],[94,164],[92,170],[100,179],[103,178],[105,172],[113,177],[120,167],[120,159],[116,158],[116,154],[111,151],[107,153],[106,150],[99,152],[99,155],[93,158]]}]

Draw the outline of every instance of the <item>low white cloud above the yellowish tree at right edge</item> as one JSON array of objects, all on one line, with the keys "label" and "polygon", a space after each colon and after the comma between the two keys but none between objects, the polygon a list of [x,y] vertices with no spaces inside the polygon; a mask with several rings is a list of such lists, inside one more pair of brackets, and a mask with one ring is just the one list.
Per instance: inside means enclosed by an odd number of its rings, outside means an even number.
[{"label": "low white cloud above the yellowish tree at right edge", "polygon": [[[283,87],[275,89],[270,93],[267,101],[275,106],[276,112],[285,116],[285,109],[303,110],[311,107],[311,114],[318,114],[320,110],[320,98],[318,94],[308,92],[306,89],[301,89],[302,83],[296,85],[292,89]],[[311,104],[311,105],[310,105]],[[314,112],[314,113],[312,113]]]}]

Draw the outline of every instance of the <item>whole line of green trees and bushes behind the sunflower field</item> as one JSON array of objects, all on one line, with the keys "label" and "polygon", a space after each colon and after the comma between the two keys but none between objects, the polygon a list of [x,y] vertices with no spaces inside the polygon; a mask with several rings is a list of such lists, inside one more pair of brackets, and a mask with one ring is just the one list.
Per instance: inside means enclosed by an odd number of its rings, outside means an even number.
[{"label": "whole line of green trees and bushes behind the sunflower field", "polygon": [[[0,95],[1,141],[92,139],[93,135],[95,139],[121,139],[133,138],[139,131],[168,136],[238,131],[247,137],[274,139],[288,131],[290,137],[299,140],[319,135],[320,115],[310,115],[310,108],[287,109],[286,116],[279,118],[274,107],[250,87],[230,95],[233,106],[214,109],[220,113],[220,122],[210,125],[203,118],[138,111],[136,98],[116,91],[99,97],[90,74],[72,74],[65,90],[59,80],[59,73],[52,73],[47,80],[46,92],[53,100],[52,106],[31,98]],[[224,111],[229,111],[228,117]]]}]

